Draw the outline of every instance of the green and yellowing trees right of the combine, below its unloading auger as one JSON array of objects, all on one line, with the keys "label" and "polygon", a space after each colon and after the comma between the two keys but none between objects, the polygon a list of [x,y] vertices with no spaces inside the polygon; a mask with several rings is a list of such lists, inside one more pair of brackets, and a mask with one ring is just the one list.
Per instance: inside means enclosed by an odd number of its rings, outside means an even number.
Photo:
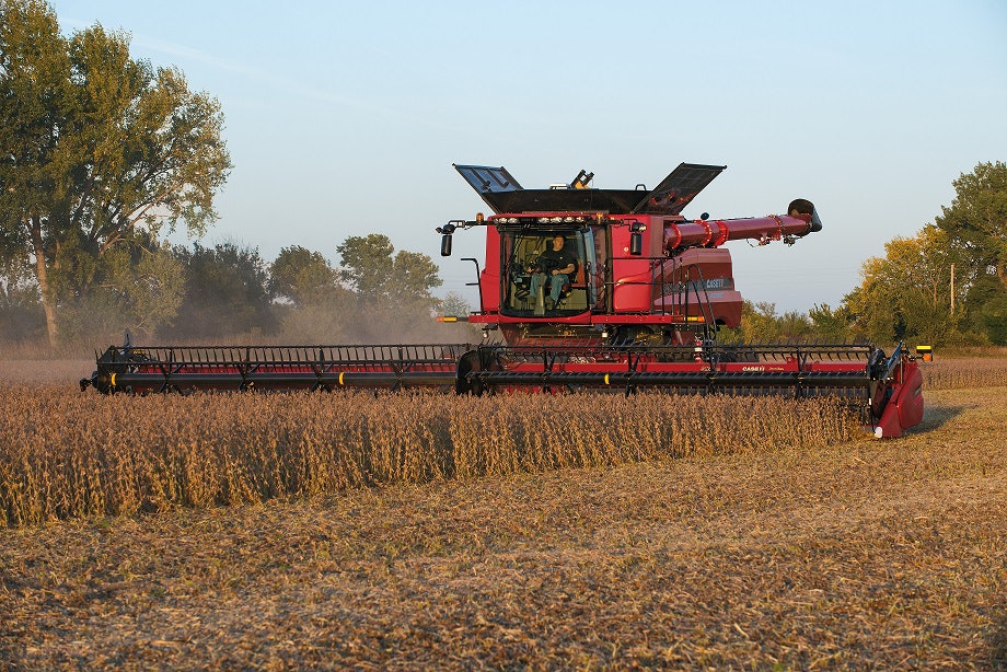
[{"label": "green and yellowing trees right of the combine, below its unloading auger", "polygon": [[952,185],[954,199],[933,223],[864,262],[838,306],[780,315],[773,303],[745,302],[729,337],[1007,345],[1007,164],[980,163]]}]

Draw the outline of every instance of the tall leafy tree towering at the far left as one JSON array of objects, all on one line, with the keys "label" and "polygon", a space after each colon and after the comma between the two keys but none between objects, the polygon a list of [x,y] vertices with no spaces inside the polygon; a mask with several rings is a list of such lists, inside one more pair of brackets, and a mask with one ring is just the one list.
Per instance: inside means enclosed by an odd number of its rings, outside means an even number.
[{"label": "tall leafy tree towering at the far left", "polygon": [[0,0],[0,244],[33,259],[50,343],[104,255],[137,231],[213,221],[222,125],[178,70],[130,58],[127,35],[96,24],[67,39],[40,0]]}]

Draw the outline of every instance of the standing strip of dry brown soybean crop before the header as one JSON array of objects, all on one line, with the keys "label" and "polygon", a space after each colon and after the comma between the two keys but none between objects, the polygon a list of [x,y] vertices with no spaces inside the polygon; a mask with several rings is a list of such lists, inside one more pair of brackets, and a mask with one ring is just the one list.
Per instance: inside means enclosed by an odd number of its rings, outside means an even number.
[{"label": "standing strip of dry brown soybean crop before the header", "polygon": [[836,401],[0,391],[0,524],[848,440]]}]

